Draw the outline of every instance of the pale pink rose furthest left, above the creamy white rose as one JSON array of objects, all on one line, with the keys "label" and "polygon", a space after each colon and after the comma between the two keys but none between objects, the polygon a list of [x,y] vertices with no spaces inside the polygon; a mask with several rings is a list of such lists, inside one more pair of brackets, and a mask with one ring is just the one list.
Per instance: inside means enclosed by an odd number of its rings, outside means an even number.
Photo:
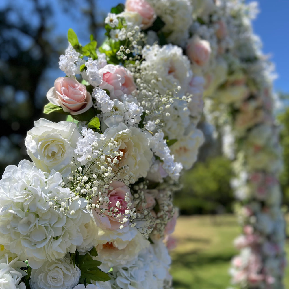
[{"label": "pale pink rose furthest left, above the creamy white rose", "polygon": [[81,114],[92,107],[92,98],[85,85],[70,77],[58,77],[46,95],[47,99],[60,105],[72,115]]}]

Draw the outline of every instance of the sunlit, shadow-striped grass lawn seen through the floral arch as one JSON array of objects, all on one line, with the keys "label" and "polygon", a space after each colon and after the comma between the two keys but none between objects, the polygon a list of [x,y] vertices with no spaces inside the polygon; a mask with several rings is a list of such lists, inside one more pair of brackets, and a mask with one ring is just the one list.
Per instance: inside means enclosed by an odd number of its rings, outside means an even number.
[{"label": "sunlit, shadow-striped grass lawn seen through the floral arch", "polygon": [[[238,251],[233,240],[240,234],[233,215],[181,216],[173,236],[171,274],[175,289],[226,289],[230,260]],[[289,244],[286,244],[289,256]],[[289,268],[285,288],[289,288]]]}]

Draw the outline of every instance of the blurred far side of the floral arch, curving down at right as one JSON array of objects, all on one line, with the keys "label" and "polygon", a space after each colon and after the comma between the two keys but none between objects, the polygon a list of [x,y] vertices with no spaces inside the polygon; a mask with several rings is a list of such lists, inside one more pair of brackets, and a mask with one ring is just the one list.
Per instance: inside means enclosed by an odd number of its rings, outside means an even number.
[{"label": "blurred far side of the floral arch, curving down at right", "polygon": [[231,159],[236,154],[232,186],[244,204],[238,209],[243,234],[235,241],[241,253],[232,260],[232,281],[241,288],[283,288],[281,147],[273,116],[273,69],[251,25],[257,4],[192,4],[199,21],[190,27],[186,54],[194,74],[204,76],[206,113],[225,132],[223,150]]}]

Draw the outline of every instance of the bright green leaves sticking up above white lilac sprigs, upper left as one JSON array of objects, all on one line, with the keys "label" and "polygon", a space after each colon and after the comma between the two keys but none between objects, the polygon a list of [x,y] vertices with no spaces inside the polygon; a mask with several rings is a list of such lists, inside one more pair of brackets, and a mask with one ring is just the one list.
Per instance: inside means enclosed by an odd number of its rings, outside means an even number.
[{"label": "bright green leaves sticking up above white lilac sprigs, upper left", "polygon": [[[79,52],[81,55],[91,57],[93,60],[97,59],[97,54],[96,54],[97,42],[93,38],[92,34],[90,35],[90,42],[84,46],[79,44],[77,35],[71,28],[68,29],[67,38],[68,38],[69,43],[73,46],[73,48],[77,52]],[[80,67],[80,69],[83,70],[85,65],[83,64],[82,66],[83,67]]]}]

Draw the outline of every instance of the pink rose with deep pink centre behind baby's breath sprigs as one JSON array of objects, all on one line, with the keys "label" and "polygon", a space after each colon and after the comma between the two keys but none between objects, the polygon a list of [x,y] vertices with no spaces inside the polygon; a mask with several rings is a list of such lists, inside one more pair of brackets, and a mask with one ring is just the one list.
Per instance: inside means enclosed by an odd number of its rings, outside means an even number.
[{"label": "pink rose with deep pink centre behind baby's breath sprigs", "polygon": [[[95,208],[95,210],[92,211],[93,216],[95,218],[95,221],[97,225],[104,229],[111,229],[116,230],[119,229],[120,225],[127,226],[129,225],[129,221],[125,223],[121,223],[123,218],[128,217],[125,215],[125,210],[127,210],[127,202],[125,201],[125,198],[131,197],[131,193],[129,188],[122,182],[122,181],[113,181],[111,186],[113,187],[112,190],[108,191],[108,198],[109,203],[102,204],[99,202],[99,197],[96,197],[93,201],[93,203],[99,204],[99,209]],[[119,205],[117,204],[119,202]],[[110,210],[110,208],[113,208]],[[118,211],[114,212],[114,209],[117,209]],[[100,212],[100,209],[103,209],[103,212]],[[111,214],[111,216],[110,216]],[[117,217],[118,214],[121,214],[120,217]]]}]

